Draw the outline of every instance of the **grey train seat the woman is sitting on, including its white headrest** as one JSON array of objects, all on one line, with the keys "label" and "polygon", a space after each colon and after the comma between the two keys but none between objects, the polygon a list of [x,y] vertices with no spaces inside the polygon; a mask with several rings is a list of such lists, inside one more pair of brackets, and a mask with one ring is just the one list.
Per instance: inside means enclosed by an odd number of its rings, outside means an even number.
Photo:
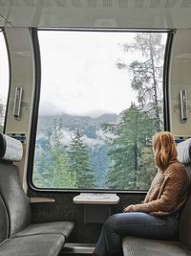
[{"label": "grey train seat the woman is sitting on, including its white headrest", "polygon": [[[178,159],[191,177],[191,138],[178,144]],[[125,237],[122,241],[124,256],[188,256],[191,255],[191,196],[181,216],[179,241],[162,241]]]}]

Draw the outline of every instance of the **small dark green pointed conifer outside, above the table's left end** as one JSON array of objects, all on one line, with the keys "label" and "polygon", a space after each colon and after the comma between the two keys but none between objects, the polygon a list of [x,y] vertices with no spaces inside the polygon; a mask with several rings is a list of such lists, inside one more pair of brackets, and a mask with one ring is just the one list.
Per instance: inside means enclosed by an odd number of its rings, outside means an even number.
[{"label": "small dark green pointed conifer outside, above the table's left end", "polygon": [[70,170],[76,176],[76,188],[94,188],[95,172],[90,167],[89,155],[82,134],[77,130],[69,145]]}]

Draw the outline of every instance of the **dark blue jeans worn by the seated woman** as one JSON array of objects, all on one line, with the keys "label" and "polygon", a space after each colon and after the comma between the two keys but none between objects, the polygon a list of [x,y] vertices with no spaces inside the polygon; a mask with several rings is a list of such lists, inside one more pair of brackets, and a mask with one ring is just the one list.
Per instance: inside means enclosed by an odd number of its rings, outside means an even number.
[{"label": "dark blue jeans worn by the seated woman", "polygon": [[133,236],[173,240],[178,237],[179,214],[153,216],[141,212],[119,213],[108,218],[96,244],[99,256],[123,255],[122,238]]}]

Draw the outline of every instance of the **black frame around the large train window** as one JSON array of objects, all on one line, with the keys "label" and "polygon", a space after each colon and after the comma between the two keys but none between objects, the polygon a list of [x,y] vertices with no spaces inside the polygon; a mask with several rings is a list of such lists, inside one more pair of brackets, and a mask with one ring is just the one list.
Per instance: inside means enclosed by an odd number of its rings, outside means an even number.
[{"label": "black frame around the large train window", "polygon": [[30,151],[28,158],[28,172],[27,181],[28,185],[35,192],[98,192],[98,193],[128,193],[128,194],[145,194],[146,190],[113,190],[113,189],[64,189],[64,188],[38,188],[32,182],[32,171],[34,163],[34,151],[35,151],[35,139],[37,133],[37,123],[38,123],[38,111],[40,104],[40,91],[41,91],[41,57],[40,57],[40,47],[38,41],[38,31],[76,31],[76,32],[135,32],[135,33],[166,33],[166,46],[164,52],[164,66],[163,66],[163,122],[164,130],[170,130],[170,112],[169,112],[169,70],[170,70],[170,59],[171,59],[171,49],[173,43],[173,35],[175,30],[124,30],[124,29],[36,29],[32,28],[32,43],[34,52],[34,65],[35,65],[35,89],[34,89],[34,100],[32,109],[32,128],[31,128],[31,138],[30,138]]}]

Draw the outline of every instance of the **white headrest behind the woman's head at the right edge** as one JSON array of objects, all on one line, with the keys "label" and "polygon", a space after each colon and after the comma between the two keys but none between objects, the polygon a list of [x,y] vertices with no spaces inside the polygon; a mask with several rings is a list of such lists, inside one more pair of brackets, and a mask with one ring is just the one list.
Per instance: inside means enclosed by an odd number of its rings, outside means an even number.
[{"label": "white headrest behind the woman's head at the right edge", "polygon": [[183,165],[191,165],[191,138],[177,145],[178,160]]}]

